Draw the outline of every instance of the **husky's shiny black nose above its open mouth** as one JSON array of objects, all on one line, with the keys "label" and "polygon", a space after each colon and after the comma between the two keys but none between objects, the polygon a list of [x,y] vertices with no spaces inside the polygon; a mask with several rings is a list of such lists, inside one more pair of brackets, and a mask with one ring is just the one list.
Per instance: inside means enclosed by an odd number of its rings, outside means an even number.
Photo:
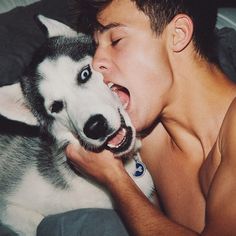
[{"label": "husky's shiny black nose above its open mouth", "polygon": [[91,139],[100,139],[105,137],[107,130],[107,120],[101,114],[91,116],[84,126],[85,135]]}]

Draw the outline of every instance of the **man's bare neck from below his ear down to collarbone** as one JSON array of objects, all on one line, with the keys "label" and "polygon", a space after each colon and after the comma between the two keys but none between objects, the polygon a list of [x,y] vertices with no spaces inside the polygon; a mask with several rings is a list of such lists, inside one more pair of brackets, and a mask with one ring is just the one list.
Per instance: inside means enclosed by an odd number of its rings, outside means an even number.
[{"label": "man's bare neck from below his ear down to collarbone", "polygon": [[236,86],[204,60],[180,60],[173,66],[174,84],[161,121],[178,146],[185,138],[195,138],[207,155],[236,96]]}]

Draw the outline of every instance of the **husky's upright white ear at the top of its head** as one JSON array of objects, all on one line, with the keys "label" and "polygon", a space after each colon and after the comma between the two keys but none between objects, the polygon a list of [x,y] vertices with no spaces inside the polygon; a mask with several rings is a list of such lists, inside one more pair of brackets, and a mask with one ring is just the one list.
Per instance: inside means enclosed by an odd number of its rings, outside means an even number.
[{"label": "husky's upright white ear at the top of its head", "polygon": [[76,37],[78,36],[78,33],[71,29],[69,26],[50,19],[48,17],[45,17],[43,15],[37,16],[38,20],[43,24],[44,27],[46,27],[48,37],[54,37],[54,36],[67,36],[67,37]]}]

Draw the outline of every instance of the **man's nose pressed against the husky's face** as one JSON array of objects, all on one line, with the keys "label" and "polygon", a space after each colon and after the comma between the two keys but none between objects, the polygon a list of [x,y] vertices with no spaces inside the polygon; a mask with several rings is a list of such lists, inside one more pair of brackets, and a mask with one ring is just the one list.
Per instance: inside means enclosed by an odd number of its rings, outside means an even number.
[{"label": "man's nose pressed against the husky's face", "polygon": [[111,69],[111,60],[109,60],[108,53],[103,49],[97,49],[93,57],[92,66],[94,70],[104,74],[108,73]]}]

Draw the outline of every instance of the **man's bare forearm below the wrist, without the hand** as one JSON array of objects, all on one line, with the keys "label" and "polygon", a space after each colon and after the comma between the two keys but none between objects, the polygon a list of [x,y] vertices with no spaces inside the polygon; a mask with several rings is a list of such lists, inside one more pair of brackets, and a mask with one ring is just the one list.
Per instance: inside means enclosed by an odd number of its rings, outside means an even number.
[{"label": "man's bare forearm below the wrist, without the hand", "polygon": [[169,220],[143,195],[128,175],[107,185],[131,235],[198,235]]}]

